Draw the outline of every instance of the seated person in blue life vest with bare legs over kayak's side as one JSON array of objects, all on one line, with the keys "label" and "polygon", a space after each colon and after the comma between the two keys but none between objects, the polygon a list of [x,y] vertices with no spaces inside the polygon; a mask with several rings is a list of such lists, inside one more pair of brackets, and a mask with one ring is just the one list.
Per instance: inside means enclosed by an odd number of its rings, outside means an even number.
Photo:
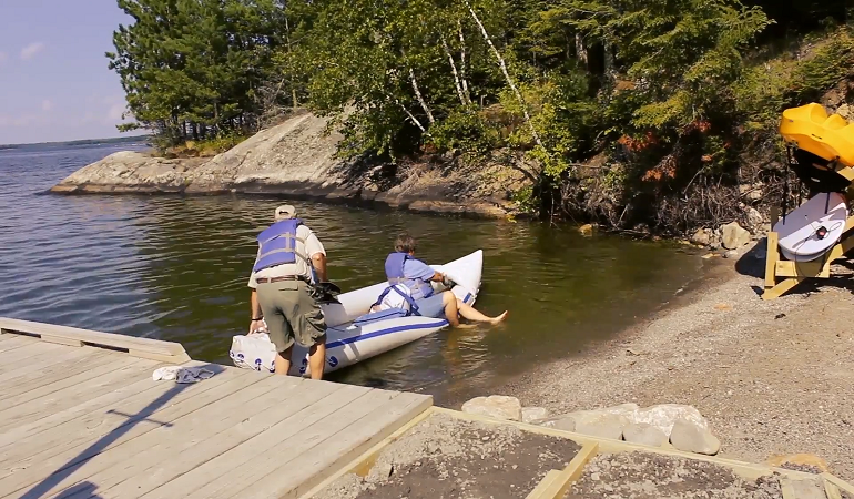
[{"label": "seated person in blue life vest with bare legs over kayak's side", "polygon": [[[465,304],[450,292],[436,294],[430,285],[431,281],[448,285],[450,279],[430,268],[429,265],[415,257],[416,242],[408,233],[403,233],[395,241],[395,251],[386,258],[386,278],[390,285],[383,295],[395,293],[398,285],[403,285],[409,292],[404,296],[409,303],[410,309],[425,317],[441,317],[443,313],[448,323],[459,326],[459,316],[478,323],[497,324],[507,317],[505,310],[497,317],[488,317],[475,307]],[[382,299],[382,297],[380,297]],[[415,306],[413,306],[415,305]]]}]

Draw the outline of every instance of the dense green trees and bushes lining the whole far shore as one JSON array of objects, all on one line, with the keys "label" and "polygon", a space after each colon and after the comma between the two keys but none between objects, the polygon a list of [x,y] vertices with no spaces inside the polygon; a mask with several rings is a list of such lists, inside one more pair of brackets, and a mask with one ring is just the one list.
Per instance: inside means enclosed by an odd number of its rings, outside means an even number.
[{"label": "dense green trees and bushes lining the whole far shore", "polygon": [[111,67],[131,126],[160,143],[225,147],[304,105],[342,124],[342,156],[523,151],[539,167],[522,210],[562,192],[568,210],[623,225],[730,213],[709,190],[738,187],[745,144],[772,143],[783,109],[854,67],[850,27],[833,27],[852,22],[844,0],[119,6],[135,22],[115,32]]}]

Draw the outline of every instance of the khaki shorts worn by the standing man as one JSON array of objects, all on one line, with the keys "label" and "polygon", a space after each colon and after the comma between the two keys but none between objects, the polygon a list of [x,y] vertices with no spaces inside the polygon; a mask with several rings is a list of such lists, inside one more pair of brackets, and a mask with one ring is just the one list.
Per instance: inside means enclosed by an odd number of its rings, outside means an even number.
[{"label": "khaki shorts worn by the standing man", "polygon": [[321,306],[302,281],[279,281],[258,284],[258,305],[270,329],[270,339],[283,353],[296,340],[305,348],[326,334]]}]

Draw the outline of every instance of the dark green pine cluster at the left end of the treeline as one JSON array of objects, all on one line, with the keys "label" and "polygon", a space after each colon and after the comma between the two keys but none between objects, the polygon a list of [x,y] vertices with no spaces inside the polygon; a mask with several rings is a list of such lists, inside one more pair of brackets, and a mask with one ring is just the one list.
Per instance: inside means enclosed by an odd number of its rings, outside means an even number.
[{"label": "dark green pine cluster at the left end of the treeline", "polygon": [[159,142],[250,132],[255,90],[281,44],[275,0],[119,0],[134,19],[113,34],[115,70],[136,122]]}]

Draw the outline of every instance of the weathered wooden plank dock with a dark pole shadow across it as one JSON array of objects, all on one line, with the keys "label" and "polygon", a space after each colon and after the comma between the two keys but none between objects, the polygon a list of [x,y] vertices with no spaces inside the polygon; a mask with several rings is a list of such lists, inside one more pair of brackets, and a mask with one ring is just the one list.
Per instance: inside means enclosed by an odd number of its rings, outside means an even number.
[{"label": "weathered wooden plank dock with a dark pole shadow across it", "polygon": [[[169,365],[215,375],[154,381]],[[0,399],[0,498],[21,499],[302,497],[433,405],[7,318]]]}]

